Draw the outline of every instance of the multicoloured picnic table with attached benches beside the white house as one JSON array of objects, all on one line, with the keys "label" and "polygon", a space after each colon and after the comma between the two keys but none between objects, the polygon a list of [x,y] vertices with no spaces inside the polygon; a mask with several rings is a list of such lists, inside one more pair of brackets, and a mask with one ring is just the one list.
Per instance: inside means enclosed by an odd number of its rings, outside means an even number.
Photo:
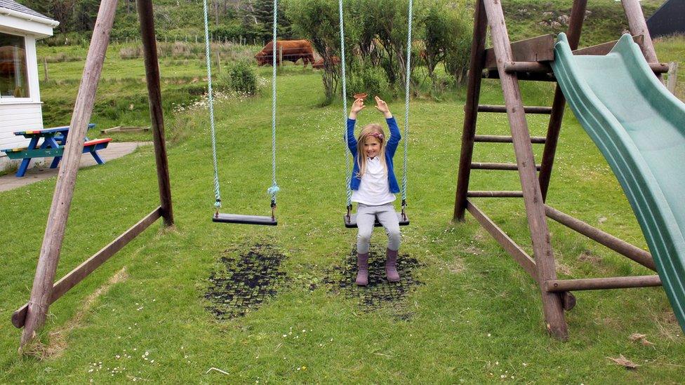
[{"label": "multicoloured picnic table with attached benches beside the white house", "polygon": [[[95,127],[95,124],[88,124],[88,129]],[[26,131],[16,131],[14,135],[22,135],[30,139],[28,147],[20,147],[15,149],[4,149],[4,151],[10,159],[22,159],[22,163],[17,170],[16,176],[23,177],[26,174],[26,170],[29,167],[29,163],[32,158],[47,158],[53,156],[53,162],[50,168],[56,168],[62,159],[62,154],[64,154],[64,147],[67,143],[67,135],[69,135],[69,126],[46,128],[44,130],[26,130]],[[39,144],[39,140],[43,139],[43,142]],[[112,141],[111,137],[105,137],[103,139],[89,140],[88,137],[84,138],[84,151],[90,153],[95,162],[98,164],[104,164],[105,161],[98,155],[98,150],[107,148],[109,142]]]}]

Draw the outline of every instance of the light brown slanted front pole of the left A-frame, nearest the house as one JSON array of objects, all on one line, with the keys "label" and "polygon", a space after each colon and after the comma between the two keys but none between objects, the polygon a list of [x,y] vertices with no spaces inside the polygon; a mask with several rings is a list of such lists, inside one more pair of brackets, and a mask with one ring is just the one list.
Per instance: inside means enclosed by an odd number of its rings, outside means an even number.
[{"label": "light brown slanted front pole of the left A-frame, nearest the house", "polygon": [[112,31],[115,11],[117,11],[117,0],[102,0],[93,29],[91,46],[88,48],[84,76],[74,103],[72,121],[69,124],[69,131],[71,131],[69,136],[72,140],[69,140],[65,146],[64,163],[58,173],[20,346],[24,346],[34,338],[36,330],[45,323],[48,306],[50,306],[55,271],[60,259],[67,217],[74,195],[79,161],[84,149],[83,138],[86,136],[88,121],[91,120],[93,113],[95,91],[98,89],[102,63],[105,62],[109,32]]}]

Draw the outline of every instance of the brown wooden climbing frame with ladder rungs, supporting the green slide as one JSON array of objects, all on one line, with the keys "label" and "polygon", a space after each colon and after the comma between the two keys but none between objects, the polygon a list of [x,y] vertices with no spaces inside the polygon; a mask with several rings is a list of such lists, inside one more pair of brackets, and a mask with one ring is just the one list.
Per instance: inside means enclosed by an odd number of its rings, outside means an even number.
[{"label": "brown wooden climbing frame with ladder rungs, supporting the green slide", "polygon": [[[587,0],[573,1],[568,23],[568,42],[574,53],[583,55],[605,55],[615,42],[608,42],[578,50],[580,32],[585,18]],[[658,63],[656,53],[647,30],[646,22],[638,0],[623,0],[623,8],[630,32],[642,48],[651,68],[660,76],[667,72],[667,65]],[[486,49],[486,29],[490,27],[493,48]],[[519,81],[556,81],[549,62],[554,60],[554,36],[543,35],[532,39],[510,43],[504,13],[500,0],[479,0],[474,11],[473,41],[469,69],[467,100],[465,104],[462,147],[454,205],[454,219],[463,221],[468,210],[495,240],[521,265],[540,286],[543,313],[547,330],[559,339],[568,338],[564,310],[571,310],[576,303],[573,290],[594,290],[610,288],[637,288],[661,285],[658,276],[632,276],[612,278],[588,278],[559,280],[555,271],[554,252],[550,244],[550,230],[547,217],[583,234],[611,250],[656,271],[649,254],[630,243],[606,234],[570,215],[564,214],[545,203],[552,175],[554,154],[559,140],[561,119],[564,116],[566,100],[561,88],[554,90],[552,107],[527,107],[521,100]],[[500,79],[505,105],[479,104],[481,79]],[[479,112],[506,113],[511,136],[476,135]],[[528,132],[526,114],[549,114],[546,137],[531,137]],[[476,142],[512,143],[517,163],[475,163],[473,147]],[[533,157],[532,144],[544,144],[539,164]],[[518,170],[521,191],[470,191],[471,170]],[[533,257],[507,236],[477,205],[472,198],[523,198],[528,218]]]}]

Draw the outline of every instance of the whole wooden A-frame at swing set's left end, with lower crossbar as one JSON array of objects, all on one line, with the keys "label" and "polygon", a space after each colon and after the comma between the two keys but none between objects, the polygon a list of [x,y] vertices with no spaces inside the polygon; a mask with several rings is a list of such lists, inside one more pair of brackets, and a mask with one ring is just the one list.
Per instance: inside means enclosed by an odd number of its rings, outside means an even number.
[{"label": "whole wooden A-frame at swing set's left end, with lower crossbar", "polygon": [[112,257],[114,253],[121,250],[135,236],[138,236],[138,234],[147,229],[159,217],[164,218],[166,226],[173,224],[171,184],[169,182],[166,144],[164,142],[164,119],[161,109],[159,65],[154,36],[152,1],[138,0],[161,205],[125,231],[124,234],[117,237],[112,243],[109,243],[109,245],[106,245],[105,248],[102,248],[95,255],[86,259],[85,262],[61,278],[60,281],[53,283],[60,259],[62,242],[64,241],[67,218],[79,170],[79,161],[84,147],[84,138],[88,121],[90,121],[91,114],[93,113],[95,92],[100,81],[102,65],[105,62],[109,34],[112,31],[116,10],[117,0],[102,0],[100,2],[98,18],[95,21],[91,38],[91,46],[88,48],[88,55],[86,57],[84,75],[81,79],[81,85],[79,86],[79,92],[74,104],[71,123],[69,123],[69,139],[65,144],[62,165],[60,166],[57,184],[55,185],[55,193],[53,194],[41,253],[38,265],[36,266],[31,297],[29,302],[15,311],[12,316],[12,322],[16,327],[24,327],[20,339],[21,347],[25,346],[36,336],[36,331],[45,323],[50,304],[64,295],[67,290],[77,285],[89,273],[104,263],[109,257]]}]

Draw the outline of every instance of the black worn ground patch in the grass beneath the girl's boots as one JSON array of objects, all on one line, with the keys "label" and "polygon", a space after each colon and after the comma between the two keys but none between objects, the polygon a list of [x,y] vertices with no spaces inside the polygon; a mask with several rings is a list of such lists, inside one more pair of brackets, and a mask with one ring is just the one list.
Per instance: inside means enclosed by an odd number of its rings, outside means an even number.
[{"label": "black worn ground patch in the grass beneath the girl's boots", "polygon": [[409,255],[400,254],[397,257],[397,271],[401,280],[390,283],[385,278],[385,248],[371,246],[368,252],[368,285],[357,286],[357,246],[354,245],[350,254],[345,257],[341,265],[333,266],[326,273],[324,283],[328,290],[340,293],[347,298],[358,299],[359,306],[364,311],[378,309],[392,309],[397,318],[408,320],[412,313],[408,309],[406,297],[418,285],[423,285],[414,278],[415,270],[425,266]]}]

